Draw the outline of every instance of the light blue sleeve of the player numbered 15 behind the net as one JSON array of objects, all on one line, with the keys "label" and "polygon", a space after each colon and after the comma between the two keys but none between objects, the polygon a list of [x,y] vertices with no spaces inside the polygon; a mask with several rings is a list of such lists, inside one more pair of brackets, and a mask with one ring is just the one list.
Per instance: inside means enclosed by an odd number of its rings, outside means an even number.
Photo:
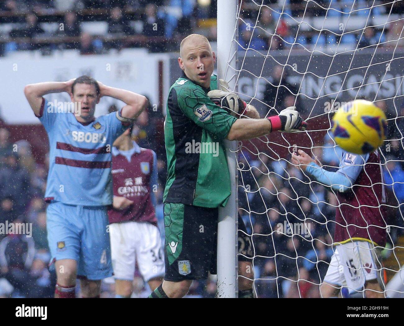
[{"label": "light blue sleeve of the player numbered 15 behind the net", "polygon": [[306,172],[323,185],[344,192],[352,187],[368,158],[369,154],[361,156],[342,151],[341,163],[336,172],[324,170],[314,162],[307,166]]}]

